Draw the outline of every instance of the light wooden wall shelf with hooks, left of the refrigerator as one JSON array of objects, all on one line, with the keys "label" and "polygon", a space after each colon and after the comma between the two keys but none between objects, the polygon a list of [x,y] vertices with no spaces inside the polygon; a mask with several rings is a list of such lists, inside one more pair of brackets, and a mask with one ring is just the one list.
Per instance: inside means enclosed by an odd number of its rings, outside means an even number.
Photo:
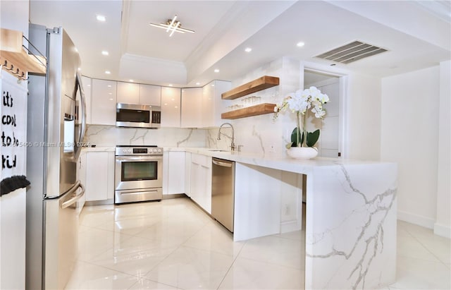
[{"label": "light wooden wall shelf with hooks, left of the refrigerator", "polygon": [[7,61],[8,66],[13,65],[13,70],[18,68],[23,72],[46,73],[47,61],[44,56],[27,54],[23,48],[23,33],[17,30],[0,30],[0,59],[1,65]]}]

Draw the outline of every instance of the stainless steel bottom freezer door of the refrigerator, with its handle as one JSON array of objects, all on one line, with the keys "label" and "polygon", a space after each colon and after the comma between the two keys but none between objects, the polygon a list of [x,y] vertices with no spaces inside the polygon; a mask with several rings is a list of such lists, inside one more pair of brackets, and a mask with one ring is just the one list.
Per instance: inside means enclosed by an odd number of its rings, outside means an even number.
[{"label": "stainless steel bottom freezer door of the refrigerator, with its handle", "polygon": [[60,198],[44,200],[44,287],[64,289],[78,256],[77,200],[85,194],[80,181]]}]

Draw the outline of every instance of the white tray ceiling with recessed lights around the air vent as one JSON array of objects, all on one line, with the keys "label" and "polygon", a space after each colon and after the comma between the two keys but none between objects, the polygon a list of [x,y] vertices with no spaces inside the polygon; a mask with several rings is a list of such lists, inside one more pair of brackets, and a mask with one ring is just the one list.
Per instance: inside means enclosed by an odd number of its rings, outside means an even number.
[{"label": "white tray ceiling with recessed lights around the air vent", "polygon": [[[195,33],[149,25],[175,14]],[[450,1],[30,1],[31,23],[66,29],[83,75],[175,87],[234,80],[283,56],[328,66],[314,56],[354,40],[388,52],[335,67],[414,71],[450,59],[450,19]]]}]

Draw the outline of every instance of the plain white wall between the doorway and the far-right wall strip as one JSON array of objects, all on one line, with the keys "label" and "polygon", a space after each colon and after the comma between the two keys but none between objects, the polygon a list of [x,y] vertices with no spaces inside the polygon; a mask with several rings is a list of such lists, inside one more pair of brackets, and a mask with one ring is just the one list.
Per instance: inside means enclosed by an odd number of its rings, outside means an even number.
[{"label": "plain white wall between the doorway and the far-right wall strip", "polygon": [[433,66],[382,80],[381,159],[398,164],[398,219],[431,229],[437,206],[439,73]]}]

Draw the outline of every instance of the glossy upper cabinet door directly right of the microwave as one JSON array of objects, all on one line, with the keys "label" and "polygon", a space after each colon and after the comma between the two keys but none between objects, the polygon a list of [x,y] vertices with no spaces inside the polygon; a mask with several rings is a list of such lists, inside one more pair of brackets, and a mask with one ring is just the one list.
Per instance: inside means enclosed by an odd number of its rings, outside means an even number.
[{"label": "glossy upper cabinet door directly right of the microwave", "polygon": [[161,127],[180,128],[180,89],[161,87]]}]

